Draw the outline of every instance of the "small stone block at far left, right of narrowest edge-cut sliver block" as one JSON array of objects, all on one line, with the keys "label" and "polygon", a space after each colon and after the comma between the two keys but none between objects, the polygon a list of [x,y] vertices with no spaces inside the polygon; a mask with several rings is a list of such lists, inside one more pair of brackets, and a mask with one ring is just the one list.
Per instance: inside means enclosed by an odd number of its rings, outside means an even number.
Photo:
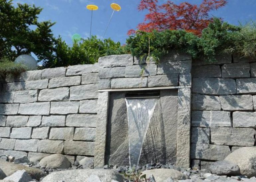
[{"label": "small stone block at far left, right of narrowest edge-cut sliver block", "polygon": [[26,127],[29,116],[7,116],[6,126],[8,127]]}]

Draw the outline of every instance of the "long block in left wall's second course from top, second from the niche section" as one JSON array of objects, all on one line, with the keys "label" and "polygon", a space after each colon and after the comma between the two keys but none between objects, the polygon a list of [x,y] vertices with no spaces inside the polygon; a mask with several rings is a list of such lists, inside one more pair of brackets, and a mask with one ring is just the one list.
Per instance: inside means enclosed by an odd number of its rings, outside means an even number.
[{"label": "long block in left wall's second course from top, second from the niche section", "polygon": [[48,88],[74,86],[74,85],[80,85],[80,83],[81,83],[80,76],[53,78],[49,80]]}]

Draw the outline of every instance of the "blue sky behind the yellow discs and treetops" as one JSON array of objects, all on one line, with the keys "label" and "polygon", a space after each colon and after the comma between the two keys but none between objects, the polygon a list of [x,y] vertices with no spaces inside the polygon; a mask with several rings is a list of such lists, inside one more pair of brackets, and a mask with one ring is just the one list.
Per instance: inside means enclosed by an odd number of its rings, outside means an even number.
[{"label": "blue sky behind the yellow discs and treetops", "polygon": [[[160,3],[166,0],[159,0]],[[185,0],[174,0],[181,3]],[[146,12],[138,12],[137,6],[140,0],[14,0],[13,3],[35,4],[44,8],[39,15],[39,21],[51,20],[56,22],[53,26],[55,36],[61,35],[63,39],[71,44],[71,36],[74,33],[82,37],[88,37],[90,33],[91,12],[86,5],[95,4],[99,7],[93,12],[92,34],[102,38],[109,18],[112,14],[111,3],[118,3],[122,10],[115,12],[106,38],[111,37],[114,41],[125,43],[127,31],[136,28],[138,23],[143,22]],[[201,0],[187,0],[189,3],[199,4]],[[256,20],[256,0],[228,0],[228,4],[212,11],[211,15],[222,17],[224,21],[232,24]]]}]

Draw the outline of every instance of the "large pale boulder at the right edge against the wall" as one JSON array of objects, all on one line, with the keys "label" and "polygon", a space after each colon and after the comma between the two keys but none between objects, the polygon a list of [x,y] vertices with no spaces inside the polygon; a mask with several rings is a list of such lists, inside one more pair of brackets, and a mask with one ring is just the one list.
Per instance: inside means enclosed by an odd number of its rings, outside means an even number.
[{"label": "large pale boulder at the right edge against the wall", "polygon": [[242,175],[249,178],[256,176],[256,148],[242,147],[229,154],[224,160],[238,165]]}]

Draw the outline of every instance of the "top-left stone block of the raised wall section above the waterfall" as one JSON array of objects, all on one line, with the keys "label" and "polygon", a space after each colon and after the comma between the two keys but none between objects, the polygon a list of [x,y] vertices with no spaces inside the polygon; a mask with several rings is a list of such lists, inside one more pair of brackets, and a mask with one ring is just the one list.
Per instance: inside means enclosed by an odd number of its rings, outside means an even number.
[{"label": "top-left stone block of the raised wall section above the waterfall", "polygon": [[100,57],[99,67],[118,67],[133,65],[133,56],[130,54],[111,55]]}]

